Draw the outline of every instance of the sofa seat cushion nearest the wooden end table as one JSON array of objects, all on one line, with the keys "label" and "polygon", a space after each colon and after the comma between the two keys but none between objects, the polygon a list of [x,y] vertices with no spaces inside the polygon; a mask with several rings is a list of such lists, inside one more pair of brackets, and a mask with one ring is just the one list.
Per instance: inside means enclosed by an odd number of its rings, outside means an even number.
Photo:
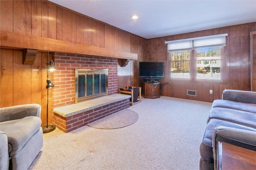
[{"label": "sofa seat cushion nearest the wooden end table", "polygon": [[204,133],[204,138],[200,144],[200,156],[208,161],[213,162],[213,150],[212,150],[212,135],[215,127],[224,126],[224,127],[232,127],[239,128],[244,130],[250,130],[256,132],[255,128],[247,127],[244,125],[239,125],[236,123],[223,121],[219,119],[210,119],[206,126],[206,130]]}]

